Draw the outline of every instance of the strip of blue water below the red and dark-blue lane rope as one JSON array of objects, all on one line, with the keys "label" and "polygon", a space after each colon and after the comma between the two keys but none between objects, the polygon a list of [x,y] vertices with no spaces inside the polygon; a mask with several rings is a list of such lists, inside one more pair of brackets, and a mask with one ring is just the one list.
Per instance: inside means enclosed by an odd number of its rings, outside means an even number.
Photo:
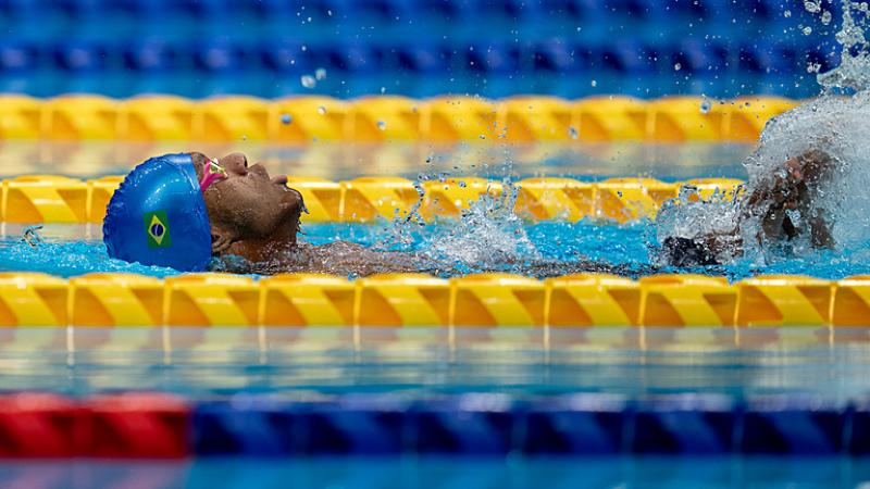
[{"label": "strip of blue water below the red and dark-blue lane rope", "polygon": [[863,488],[870,461],[776,457],[323,457],[14,462],[4,487],[100,488]]}]

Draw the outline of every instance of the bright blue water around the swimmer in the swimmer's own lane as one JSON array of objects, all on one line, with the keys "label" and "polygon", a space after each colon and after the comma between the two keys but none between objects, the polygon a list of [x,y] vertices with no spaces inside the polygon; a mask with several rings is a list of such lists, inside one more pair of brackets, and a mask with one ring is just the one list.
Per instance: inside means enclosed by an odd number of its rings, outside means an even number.
[{"label": "bright blue water around the swimmer in the swimmer's own lane", "polygon": [[[575,262],[586,258],[610,265],[623,265],[629,275],[649,273],[695,272],[724,275],[739,279],[758,274],[807,274],[821,278],[843,278],[870,273],[870,242],[840,250],[811,250],[805,253],[771,253],[766,262],[745,259],[726,266],[698,268],[658,268],[650,266],[655,259],[655,224],[639,222],[627,225],[601,225],[588,221],[580,223],[546,222],[539,224],[512,224],[507,233],[497,236],[459,234],[457,224],[445,222],[424,227],[406,226],[401,236],[410,242],[399,244],[390,223],[362,224],[314,224],[304,225],[304,239],[313,244],[334,240],[349,240],[383,250],[420,251],[457,265],[457,273],[472,273],[487,267],[474,262],[458,262],[451,254],[472,251],[485,254],[493,240],[515,239],[513,231],[522,229],[527,241],[517,240],[511,247],[517,253],[515,263],[523,261]],[[33,249],[21,242],[22,226],[7,227],[7,237],[0,240],[0,269],[44,272],[58,276],[76,276],[91,272],[128,272],[163,277],[176,274],[170,268],[128,264],[112,260],[99,238],[99,227],[86,231],[84,226],[47,225],[41,235],[45,243]],[[439,249],[438,243],[450,240],[449,250]],[[535,254],[537,253],[537,254]],[[492,264],[495,269],[511,271],[506,263]],[[492,269],[492,268],[490,268]],[[556,267],[558,271],[558,266]],[[570,271],[569,266],[566,269]],[[550,271],[551,273],[552,271]]]}]

